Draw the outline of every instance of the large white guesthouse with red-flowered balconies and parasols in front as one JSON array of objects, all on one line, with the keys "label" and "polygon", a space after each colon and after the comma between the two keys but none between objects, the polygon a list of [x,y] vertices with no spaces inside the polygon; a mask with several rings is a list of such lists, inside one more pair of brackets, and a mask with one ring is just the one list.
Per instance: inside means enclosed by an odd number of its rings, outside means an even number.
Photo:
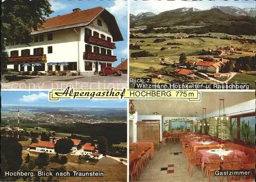
[{"label": "large white guesthouse with red-flowered balconies and parasols in front", "polygon": [[117,61],[114,42],[123,37],[115,17],[102,7],[46,19],[29,44],[6,42],[7,68],[15,71],[70,71],[90,75]]}]

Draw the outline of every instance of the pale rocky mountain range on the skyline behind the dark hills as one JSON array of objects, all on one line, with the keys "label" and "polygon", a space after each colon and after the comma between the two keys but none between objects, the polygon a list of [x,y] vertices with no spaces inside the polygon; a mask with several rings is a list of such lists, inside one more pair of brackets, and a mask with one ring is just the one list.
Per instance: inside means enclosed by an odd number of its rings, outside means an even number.
[{"label": "pale rocky mountain range on the skyline behind the dark hills", "polygon": [[[233,16],[252,16],[252,17],[255,17],[255,15],[256,15],[256,8],[238,8],[236,6],[212,6],[211,7],[211,9],[215,9],[215,8],[223,11],[224,13],[228,13],[228,14],[233,15]],[[199,10],[197,8],[178,8],[178,9],[174,9],[174,10],[161,12],[161,13],[159,13],[159,15],[164,14],[164,13],[168,13],[168,12],[178,13],[178,12],[198,12],[198,11],[202,11],[202,10]],[[130,14],[130,20],[137,20],[137,19],[152,17],[152,16],[156,16],[156,15],[157,14],[155,14],[153,12],[139,13],[137,15]]]}]

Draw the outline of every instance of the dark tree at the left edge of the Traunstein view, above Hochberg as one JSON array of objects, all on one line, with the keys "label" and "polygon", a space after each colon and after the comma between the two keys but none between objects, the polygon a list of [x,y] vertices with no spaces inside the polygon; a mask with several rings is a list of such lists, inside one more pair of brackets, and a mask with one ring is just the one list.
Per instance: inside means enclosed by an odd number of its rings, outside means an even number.
[{"label": "dark tree at the left edge of the Traunstein view, above Hochberg", "polygon": [[16,138],[1,137],[1,178],[4,171],[17,171],[22,165],[22,145]]}]

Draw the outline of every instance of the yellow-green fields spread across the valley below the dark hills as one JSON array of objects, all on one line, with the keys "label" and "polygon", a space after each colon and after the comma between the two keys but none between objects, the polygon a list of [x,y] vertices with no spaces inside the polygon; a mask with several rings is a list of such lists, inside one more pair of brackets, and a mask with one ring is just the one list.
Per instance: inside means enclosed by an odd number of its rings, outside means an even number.
[{"label": "yellow-green fields spread across the valley below the dark hills", "polygon": [[[130,39],[130,43],[134,45],[140,45],[140,50],[130,50],[130,54],[133,52],[138,51],[149,51],[152,54],[157,56],[155,57],[138,57],[138,58],[130,58],[130,77],[131,78],[141,78],[141,77],[150,77],[151,72],[148,70],[149,67],[154,67],[156,70],[165,67],[165,65],[160,65],[161,59],[164,58],[164,61],[169,63],[178,63],[179,57],[181,53],[185,53],[187,55],[187,60],[196,60],[202,61],[202,59],[198,59],[198,56],[189,56],[189,54],[194,53],[196,51],[201,51],[202,49],[214,49],[218,47],[238,47],[238,48],[245,48],[250,50],[255,50],[255,44],[245,43],[242,44],[236,40],[223,40],[223,39],[216,39],[216,38],[202,38],[202,37],[194,37],[194,38],[184,38],[184,39],[170,39],[168,37],[158,37],[158,38],[165,38],[166,41],[154,43],[153,41],[155,38],[132,38]],[[145,42],[140,42],[144,40]],[[165,45],[167,42],[177,42],[183,43],[183,45]],[[150,44],[146,46],[147,44]],[[168,49],[161,51],[162,47],[167,47]],[[170,49],[170,47],[180,47],[180,49]],[[232,54],[227,55],[228,57],[242,57],[242,56],[254,56],[254,53],[250,52],[241,52],[242,54]],[[226,55],[225,55],[226,56]],[[212,56],[210,56],[212,57]],[[218,59],[218,58],[216,58]],[[227,60],[223,60],[226,62]],[[175,68],[174,68],[175,69]],[[243,82],[247,81],[251,87],[255,87],[254,85],[254,78],[252,75],[240,75],[237,74],[234,78],[232,78],[229,83],[233,83],[232,81],[236,79],[238,82],[242,80]],[[170,81],[175,80],[174,77],[167,77],[165,76],[164,80],[160,80],[157,78],[152,78],[152,82],[156,83],[168,83]],[[225,79],[219,79],[220,81],[225,81]],[[196,79],[194,81],[190,81],[194,83],[213,83],[214,81],[207,80],[207,79]]]}]

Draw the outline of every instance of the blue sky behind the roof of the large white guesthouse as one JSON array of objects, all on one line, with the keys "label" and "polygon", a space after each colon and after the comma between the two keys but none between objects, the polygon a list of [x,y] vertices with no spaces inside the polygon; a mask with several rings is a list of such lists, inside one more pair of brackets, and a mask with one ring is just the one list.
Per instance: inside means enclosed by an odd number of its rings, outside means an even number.
[{"label": "blue sky behind the roof of the large white guesthouse", "polygon": [[121,58],[127,58],[127,1],[113,1],[113,0],[84,0],[84,1],[59,1],[49,0],[52,5],[51,9],[54,11],[50,17],[72,13],[74,8],[81,10],[91,9],[101,6],[112,13],[116,20],[118,27],[122,33],[123,41],[116,43],[117,49],[114,50],[114,55],[117,56],[117,61],[114,62],[114,67],[121,63]]}]

